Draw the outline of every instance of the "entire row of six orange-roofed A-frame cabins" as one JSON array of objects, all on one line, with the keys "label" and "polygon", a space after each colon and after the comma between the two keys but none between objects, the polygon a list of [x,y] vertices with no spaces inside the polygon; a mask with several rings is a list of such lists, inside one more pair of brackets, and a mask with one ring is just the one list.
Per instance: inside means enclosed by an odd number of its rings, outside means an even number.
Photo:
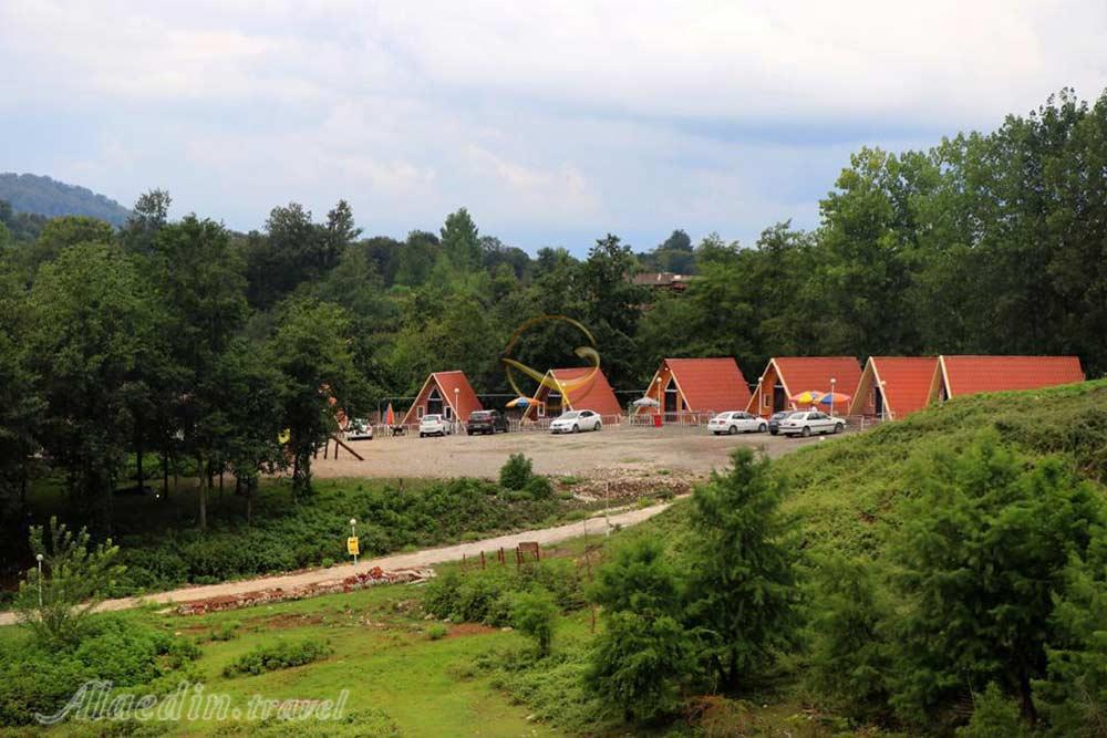
[{"label": "entire row of six orange-roofed A-frame cabins", "polygon": [[[837,392],[837,415],[902,418],[958,395],[1035,389],[1083,382],[1076,356],[775,356],[753,385],[731,357],[665,358],[645,389],[656,407],[638,414],[706,420],[713,413],[745,409],[756,415],[796,409],[792,397],[806,391]],[[525,420],[591,409],[619,416],[623,408],[603,373],[591,367],[550,370]],[[423,384],[403,424],[423,415],[465,419],[483,409],[462,372],[435,372]]]}]

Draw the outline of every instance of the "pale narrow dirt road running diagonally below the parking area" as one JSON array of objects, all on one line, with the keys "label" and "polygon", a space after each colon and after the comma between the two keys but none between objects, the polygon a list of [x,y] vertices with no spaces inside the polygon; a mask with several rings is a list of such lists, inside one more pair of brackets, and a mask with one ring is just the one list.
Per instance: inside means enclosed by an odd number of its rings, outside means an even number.
[{"label": "pale narrow dirt road running diagonally below the parking area", "polygon": [[[227,594],[254,592],[255,590],[278,586],[292,588],[302,584],[312,584],[317,582],[342,579],[343,576],[350,576],[351,574],[368,572],[373,569],[373,567],[380,567],[384,570],[403,569],[405,567],[428,567],[445,563],[447,561],[457,561],[462,559],[462,557],[478,557],[482,551],[495,551],[500,548],[514,549],[524,541],[537,541],[541,545],[548,545],[550,543],[557,543],[559,541],[582,536],[584,533],[586,526],[589,534],[600,536],[606,531],[607,524],[612,527],[633,526],[634,523],[652,518],[668,507],[669,503],[666,502],[649,508],[614,513],[609,517],[607,523],[601,514],[589,518],[586,521],[557,526],[555,528],[526,531],[523,533],[511,533],[509,536],[498,536],[483,541],[473,541],[472,543],[459,543],[457,545],[426,549],[423,551],[415,551],[413,553],[400,553],[383,557],[381,559],[369,559],[359,562],[358,565],[343,564],[339,567],[331,567],[330,569],[312,569],[310,571],[302,571],[293,574],[279,574],[276,576],[261,576],[258,579],[241,580],[237,582],[224,582],[223,584],[192,586],[182,590],[173,590],[172,592],[159,592],[144,599],[125,597],[121,600],[107,600],[106,602],[101,603],[97,610],[127,610],[144,602],[192,602],[194,600],[205,600],[207,597]],[[0,625],[11,625],[14,622],[14,614],[0,613]]]}]

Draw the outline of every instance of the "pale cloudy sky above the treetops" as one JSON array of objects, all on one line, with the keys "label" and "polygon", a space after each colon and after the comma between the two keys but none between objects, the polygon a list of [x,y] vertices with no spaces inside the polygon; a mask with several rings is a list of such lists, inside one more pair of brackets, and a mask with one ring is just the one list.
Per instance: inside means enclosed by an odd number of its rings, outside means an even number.
[{"label": "pale cloudy sky above the treetops", "polygon": [[751,245],[861,146],[1098,97],[1104,39],[1104,0],[2,0],[0,171],[237,230],[342,198],[366,235]]}]

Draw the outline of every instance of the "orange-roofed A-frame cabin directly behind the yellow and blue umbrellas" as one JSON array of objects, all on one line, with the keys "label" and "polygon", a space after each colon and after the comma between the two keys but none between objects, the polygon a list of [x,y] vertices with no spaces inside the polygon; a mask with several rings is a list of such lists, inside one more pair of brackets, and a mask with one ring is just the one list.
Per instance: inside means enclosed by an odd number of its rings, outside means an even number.
[{"label": "orange-roofed A-frame cabin directly behind the yellow and blue umbrellas", "polygon": [[[861,378],[861,366],[852,356],[774,356],[757,380],[746,410],[768,416],[798,409],[792,397],[801,392],[850,394]],[[831,382],[834,380],[834,382]],[[849,403],[835,403],[834,412],[845,414]]]}]

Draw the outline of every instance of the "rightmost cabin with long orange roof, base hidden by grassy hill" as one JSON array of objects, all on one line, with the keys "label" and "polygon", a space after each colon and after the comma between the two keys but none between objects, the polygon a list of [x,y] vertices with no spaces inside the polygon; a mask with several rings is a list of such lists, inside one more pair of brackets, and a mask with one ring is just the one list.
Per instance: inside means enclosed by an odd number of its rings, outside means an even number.
[{"label": "rightmost cabin with long orange roof, base hidden by grassy hill", "polygon": [[1076,356],[939,356],[929,401],[1084,382]]}]

